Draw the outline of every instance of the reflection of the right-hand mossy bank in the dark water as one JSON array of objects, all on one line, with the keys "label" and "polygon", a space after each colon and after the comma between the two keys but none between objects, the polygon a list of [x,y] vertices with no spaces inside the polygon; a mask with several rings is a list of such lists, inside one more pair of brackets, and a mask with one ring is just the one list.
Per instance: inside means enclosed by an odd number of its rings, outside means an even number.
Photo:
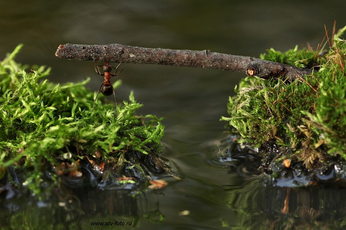
[{"label": "reflection of the right-hand mossy bank in the dark water", "polygon": [[331,188],[261,188],[255,181],[227,190],[234,216],[222,220],[244,229],[343,229],[346,190]]}]

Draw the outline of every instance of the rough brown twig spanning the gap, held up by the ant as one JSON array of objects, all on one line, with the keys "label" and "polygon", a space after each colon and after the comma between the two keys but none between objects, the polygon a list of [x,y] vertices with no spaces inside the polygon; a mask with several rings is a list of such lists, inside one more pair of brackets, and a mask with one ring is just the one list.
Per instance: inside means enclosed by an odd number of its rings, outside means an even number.
[{"label": "rough brown twig spanning the gap, held up by the ant", "polygon": [[221,69],[245,73],[250,77],[258,76],[264,79],[281,76],[281,78],[288,78],[289,81],[293,81],[297,76],[303,78],[304,75],[311,74],[312,72],[309,69],[299,69],[287,64],[211,52],[210,50],[171,50],[124,46],[121,44],[82,45],[67,43],[60,45],[55,55],[59,58],[75,60]]}]

